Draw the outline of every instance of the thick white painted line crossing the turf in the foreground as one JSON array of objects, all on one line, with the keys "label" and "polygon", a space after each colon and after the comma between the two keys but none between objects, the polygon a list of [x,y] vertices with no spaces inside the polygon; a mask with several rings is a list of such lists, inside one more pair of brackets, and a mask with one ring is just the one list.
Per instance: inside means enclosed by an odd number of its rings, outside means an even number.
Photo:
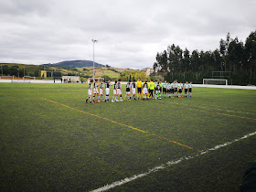
[{"label": "thick white painted line crossing the turf in the foreground", "polygon": [[249,134],[246,134],[246,135],[244,135],[244,136],[242,136],[242,137],[240,137],[240,138],[238,138],[238,139],[234,139],[234,140],[231,141],[231,142],[227,142],[227,143],[225,143],[225,144],[219,144],[219,145],[216,145],[216,146],[214,146],[214,147],[212,147],[212,148],[206,149],[206,150],[204,150],[204,151],[202,151],[202,152],[198,152],[198,153],[193,154],[193,155],[184,156],[184,157],[181,157],[181,158],[179,158],[179,159],[177,159],[177,160],[169,161],[169,162],[167,162],[167,163],[165,163],[165,164],[163,164],[163,165],[155,166],[154,168],[149,169],[148,171],[146,171],[146,172],[144,172],[144,173],[142,173],[142,174],[138,174],[138,175],[126,177],[126,178],[124,178],[124,179],[122,179],[122,180],[120,180],[120,181],[115,181],[115,182],[113,182],[112,184],[107,184],[107,185],[104,186],[104,187],[100,187],[100,188],[94,189],[92,192],[106,191],[106,190],[109,190],[109,189],[111,189],[111,188],[113,188],[113,187],[121,186],[121,185],[123,185],[123,184],[125,184],[125,183],[128,183],[128,182],[131,182],[131,181],[133,181],[133,180],[135,180],[135,179],[137,179],[137,178],[140,178],[140,177],[143,177],[143,176],[147,176],[147,175],[149,175],[149,174],[151,174],[151,173],[154,173],[154,172],[157,172],[157,171],[159,171],[159,170],[162,170],[162,169],[164,169],[165,167],[168,167],[168,166],[170,166],[170,165],[176,165],[176,164],[179,164],[179,163],[181,163],[181,162],[183,162],[183,161],[186,161],[186,160],[188,160],[188,159],[195,158],[195,157],[197,157],[197,156],[199,156],[199,155],[204,155],[204,154],[207,154],[208,152],[218,150],[219,148],[222,148],[222,147],[227,146],[227,145],[229,145],[229,144],[233,144],[233,143],[235,143],[235,142],[239,142],[240,140],[246,139],[246,138],[248,138],[248,137],[250,137],[250,136],[252,136],[252,135],[255,135],[255,134],[256,134],[256,132],[249,133]]}]

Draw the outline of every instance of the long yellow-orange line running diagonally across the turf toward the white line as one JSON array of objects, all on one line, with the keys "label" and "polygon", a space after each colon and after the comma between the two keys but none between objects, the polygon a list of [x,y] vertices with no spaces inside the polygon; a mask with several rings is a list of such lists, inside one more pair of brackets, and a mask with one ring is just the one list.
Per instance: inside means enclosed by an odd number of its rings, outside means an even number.
[{"label": "long yellow-orange line running diagonally across the turf toward the white line", "polygon": [[59,104],[59,105],[61,105],[61,106],[63,106],[63,107],[67,107],[67,108],[69,108],[69,109],[71,109],[71,110],[74,110],[74,111],[77,111],[77,112],[83,112],[83,113],[86,113],[86,114],[90,114],[90,115],[92,115],[92,116],[94,116],[94,117],[98,117],[98,118],[101,118],[101,119],[103,119],[103,120],[106,120],[106,121],[109,121],[109,122],[112,122],[112,123],[117,123],[117,124],[120,124],[120,125],[122,125],[122,126],[125,126],[125,127],[128,127],[128,128],[131,128],[131,129],[133,129],[133,130],[136,130],[136,131],[138,131],[138,132],[150,134],[150,135],[153,135],[153,136],[155,136],[155,137],[157,137],[157,138],[160,138],[160,139],[163,139],[163,140],[165,140],[165,141],[171,142],[171,143],[173,143],[173,144],[179,144],[179,145],[181,145],[181,146],[187,147],[188,149],[191,149],[191,150],[194,150],[194,151],[197,151],[197,152],[201,152],[201,150],[196,150],[196,149],[192,148],[191,146],[188,146],[188,145],[186,145],[186,144],[180,144],[180,143],[178,143],[178,142],[176,142],[176,141],[169,140],[169,139],[167,139],[167,138],[165,138],[165,137],[163,137],[163,136],[159,136],[159,135],[157,135],[157,134],[155,134],[155,133],[145,132],[145,131],[140,130],[140,129],[138,129],[138,128],[135,128],[135,127],[133,127],[133,126],[130,126],[130,125],[127,125],[127,124],[123,124],[123,123],[119,123],[119,122],[115,122],[115,121],[113,121],[113,120],[107,119],[107,118],[105,118],[105,117],[101,117],[101,116],[99,116],[99,115],[97,115],[97,114],[93,114],[93,113],[91,113],[91,112],[84,112],[84,111],[78,110],[78,109],[76,109],[76,108],[69,107],[68,105],[61,104],[61,103],[59,103],[59,102],[57,102],[57,101],[50,101],[50,100],[48,100],[48,99],[43,99],[43,100],[49,101],[49,102],[52,102],[52,103],[55,103],[55,104]]}]

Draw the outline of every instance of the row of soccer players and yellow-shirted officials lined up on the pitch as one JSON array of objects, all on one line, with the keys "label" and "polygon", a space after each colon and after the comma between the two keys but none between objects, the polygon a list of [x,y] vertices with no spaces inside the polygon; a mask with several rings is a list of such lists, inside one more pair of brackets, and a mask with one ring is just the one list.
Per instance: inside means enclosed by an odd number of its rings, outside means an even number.
[{"label": "row of soccer players and yellow-shirted officials lined up on the pitch", "polygon": [[[109,102],[110,101],[110,89],[111,89],[112,83],[111,80],[109,81],[102,81],[99,83],[99,80],[93,80],[89,83],[89,89],[88,89],[88,98],[86,99],[86,102],[90,101],[90,103],[94,102]],[[98,90],[100,88],[100,92]],[[136,94],[136,88],[137,88],[137,98],[135,96]],[[105,99],[103,98],[105,90]],[[112,96],[112,102],[116,101],[131,101],[132,98],[136,100],[150,100],[150,99],[162,99],[162,98],[175,98],[175,97],[183,97],[182,92],[184,90],[184,96],[185,97],[192,97],[192,82],[188,83],[182,83],[177,82],[175,80],[174,82],[165,82],[150,80],[150,82],[147,82],[147,80],[144,80],[144,83],[139,78],[136,80],[129,80],[126,84],[126,94],[124,97],[123,91],[122,91],[122,83],[121,80],[115,80],[113,84],[113,96]],[[132,93],[132,94],[131,94]],[[119,100],[118,100],[119,96]],[[143,98],[142,98],[143,96]],[[97,98],[96,98],[97,97]],[[100,101],[101,100],[101,101]]]}]

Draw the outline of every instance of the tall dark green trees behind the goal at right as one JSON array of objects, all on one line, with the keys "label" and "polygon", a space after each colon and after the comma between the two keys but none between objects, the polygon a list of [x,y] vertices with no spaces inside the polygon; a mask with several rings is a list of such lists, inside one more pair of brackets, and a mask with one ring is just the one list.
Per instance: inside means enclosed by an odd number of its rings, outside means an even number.
[{"label": "tall dark green trees behind the goal at right", "polygon": [[[251,32],[245,43],[228,33],[226,39],[220,39],[219,48],[208,51],[183,50],[175,44],[163,52],[157,52],[153,65],[155,73],[165,80],[191,80],[202,83],[212,78],[212,71],[230,71],[229,84],[256,84],[256,30]],[[229,74],[229,73],[226,73]]]}]

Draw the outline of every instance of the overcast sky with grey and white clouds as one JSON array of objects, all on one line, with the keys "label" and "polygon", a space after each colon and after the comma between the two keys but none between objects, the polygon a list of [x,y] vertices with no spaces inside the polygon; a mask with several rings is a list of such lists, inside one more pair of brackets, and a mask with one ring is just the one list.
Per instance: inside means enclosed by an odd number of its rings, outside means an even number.
[{"label": "overcast sky with grey and white clouds", "polygon": [[176,44],[214,50],[230,32],[256,29],[254,0],[0,0],[0,62],[93,59],[112,67],[153,67]]}]

